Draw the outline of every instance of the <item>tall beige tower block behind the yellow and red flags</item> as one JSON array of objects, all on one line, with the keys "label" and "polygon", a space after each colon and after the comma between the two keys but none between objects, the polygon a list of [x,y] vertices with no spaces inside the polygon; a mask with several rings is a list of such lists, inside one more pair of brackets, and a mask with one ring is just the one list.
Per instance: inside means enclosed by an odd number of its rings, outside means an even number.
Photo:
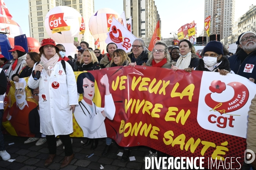
[{"label": "tall beige tower block behind the yellow and red flags", "polygon": [[204,0],[204,14],[212,18],[210,35],[219,34],[220,39],[232,35],[235,0]]}]

